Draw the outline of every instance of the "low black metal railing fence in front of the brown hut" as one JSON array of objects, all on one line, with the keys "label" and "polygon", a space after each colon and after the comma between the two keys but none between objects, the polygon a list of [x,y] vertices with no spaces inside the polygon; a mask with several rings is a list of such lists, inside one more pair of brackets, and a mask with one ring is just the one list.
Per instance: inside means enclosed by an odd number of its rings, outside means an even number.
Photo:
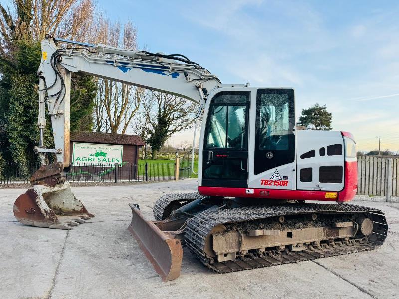
[{"label": "low black metal railing fence in front of the brown hut", "polygon": [[[176,155],[175,155],[176,157]],[[176,162],[140,160],[138,165],[121,164],[72,164],[66,179],[70,182],[157,182],[176,177]],[[0,173],[0,183],[28,183],[40,164],[21,166],[5,164]],[[191,176],[191,155],[183,154],[179,159],[179,178]]]}]

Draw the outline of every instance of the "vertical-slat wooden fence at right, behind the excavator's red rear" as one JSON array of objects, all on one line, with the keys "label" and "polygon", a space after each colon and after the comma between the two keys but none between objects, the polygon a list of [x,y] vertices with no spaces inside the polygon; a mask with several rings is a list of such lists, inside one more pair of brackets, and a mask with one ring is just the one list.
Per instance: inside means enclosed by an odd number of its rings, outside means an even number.
[{"label": "vertical-slat wooden fence at right, behind the excavator's red rear", "polygon": [[399,196],[399,158],[358,156],[357,194]]}]

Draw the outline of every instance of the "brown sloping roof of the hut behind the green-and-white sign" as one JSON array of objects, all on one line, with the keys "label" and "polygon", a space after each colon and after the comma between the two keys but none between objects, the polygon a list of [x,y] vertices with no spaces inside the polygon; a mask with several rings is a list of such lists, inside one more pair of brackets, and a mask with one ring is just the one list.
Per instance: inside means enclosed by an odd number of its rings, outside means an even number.
[{"label": "brown sloping roof of the hut behind the green-and-white sign", "polygon": [[138,135],[102,133],[102,132],[83,132],[78,131],[71,133],[71,141],[91,142],[100,144],[115,145],[137,145],[144,146],[143,139]]}]

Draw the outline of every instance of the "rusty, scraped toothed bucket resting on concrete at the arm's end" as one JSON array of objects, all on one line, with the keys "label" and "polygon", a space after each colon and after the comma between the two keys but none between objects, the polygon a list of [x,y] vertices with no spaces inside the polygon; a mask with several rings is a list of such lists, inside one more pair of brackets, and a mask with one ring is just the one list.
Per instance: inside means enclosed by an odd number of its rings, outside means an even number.
[{"label": "rusty, scraped toothed bucket resting on concrete at the arm's end", "polygon": [[76,199],[67,181],[54,187],[33,185],[16,199],[14,215],[26,225],[58,229],[72,229],[94,217]]}]

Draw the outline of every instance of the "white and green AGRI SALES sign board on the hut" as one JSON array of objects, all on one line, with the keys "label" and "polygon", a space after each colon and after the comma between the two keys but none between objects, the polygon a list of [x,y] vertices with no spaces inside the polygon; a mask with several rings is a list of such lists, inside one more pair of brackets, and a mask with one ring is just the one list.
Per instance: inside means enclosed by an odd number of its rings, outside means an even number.
[{"label": "white and green AGRI SALES sign board on the hut", "polygon": [[74,142],[72,164],[122,163],[123,146]]}]

